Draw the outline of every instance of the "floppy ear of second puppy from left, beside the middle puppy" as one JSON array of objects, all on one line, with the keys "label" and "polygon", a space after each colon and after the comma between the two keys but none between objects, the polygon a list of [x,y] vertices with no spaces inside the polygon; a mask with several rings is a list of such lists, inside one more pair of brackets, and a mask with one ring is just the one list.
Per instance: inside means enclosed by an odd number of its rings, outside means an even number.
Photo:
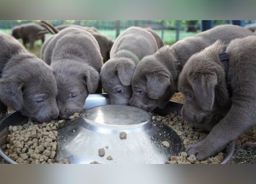
[{"label": "floppy ear of second puppy from left, beside the middle puppy", "polygon": [[95,93],[100,82],[100,74],[96,70],[86,70],[85,83],[89,93]]}]

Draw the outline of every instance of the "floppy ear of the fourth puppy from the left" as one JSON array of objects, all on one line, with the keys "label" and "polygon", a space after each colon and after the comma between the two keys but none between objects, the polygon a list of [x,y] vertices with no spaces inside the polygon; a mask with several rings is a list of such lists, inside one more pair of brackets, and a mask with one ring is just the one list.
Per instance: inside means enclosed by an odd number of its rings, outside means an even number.
[{"label": "floppy ear of the fourth puppy from the left", "polygon": [[161,97],[170,83],[170,76],[165,72],[153,72],[146,75],[148,97],[158,99]]}]

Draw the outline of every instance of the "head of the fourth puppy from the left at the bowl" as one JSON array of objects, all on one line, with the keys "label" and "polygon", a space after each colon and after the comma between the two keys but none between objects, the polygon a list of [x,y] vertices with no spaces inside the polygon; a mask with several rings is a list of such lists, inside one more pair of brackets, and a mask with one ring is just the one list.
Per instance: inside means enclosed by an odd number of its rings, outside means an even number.
[{"label": "head of the fourth puppy from the left at the bowl", "polygon": [[144,57],[132,76],[129,104],[147,111],[163,108],[176,91],[173,76],[154,56]]}]

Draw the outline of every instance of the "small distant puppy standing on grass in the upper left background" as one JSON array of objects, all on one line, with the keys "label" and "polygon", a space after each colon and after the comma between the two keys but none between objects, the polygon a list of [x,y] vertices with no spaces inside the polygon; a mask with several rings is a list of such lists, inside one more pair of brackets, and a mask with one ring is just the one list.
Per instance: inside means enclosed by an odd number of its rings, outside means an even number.
[{"label": "small distant puppy standing on grass in the upper left background", "polygon": [[12,36],[16,39],[22,39],[24,46],[29,43],[29,49],[32,49],[36,40],[41,39],[42,43],[44,43],[45,33],[39,34],[42,30],[44,30],[44,27],[31,22],[14,26]]}]

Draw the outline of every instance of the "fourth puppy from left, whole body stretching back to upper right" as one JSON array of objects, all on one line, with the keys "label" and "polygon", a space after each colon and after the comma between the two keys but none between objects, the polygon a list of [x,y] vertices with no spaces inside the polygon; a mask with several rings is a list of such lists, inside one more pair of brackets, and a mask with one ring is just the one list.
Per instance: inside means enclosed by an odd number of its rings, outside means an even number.
[{"label": "fourth puppy from left, whole body stretching back to upper right", "polygon": [[132,97],[129,104],[152,111],[163,108],[177,91],[177,78],[182,66],[193,53],[199,52],[216,40],[229,43],[253,33],[237,25],[219,25],[194,37],[159,49],[154,55],[144,57],[132,76]]}]

